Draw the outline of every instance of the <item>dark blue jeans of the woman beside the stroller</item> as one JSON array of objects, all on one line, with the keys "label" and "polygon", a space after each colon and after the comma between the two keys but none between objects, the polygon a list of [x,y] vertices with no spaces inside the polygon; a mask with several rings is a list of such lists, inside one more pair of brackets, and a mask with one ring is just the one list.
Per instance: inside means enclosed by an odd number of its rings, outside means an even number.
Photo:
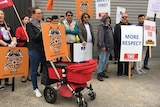
[{"label": "dark blue jeans of the woman beside the stroller", "polygon": [[38,70],[39,63],[43,59],[42,55],[43,54],[41,51],[29,50],[30,73],[31,73],[31,80],[32,80],[32,85],[34,90],[38,88],[37,70]]}]

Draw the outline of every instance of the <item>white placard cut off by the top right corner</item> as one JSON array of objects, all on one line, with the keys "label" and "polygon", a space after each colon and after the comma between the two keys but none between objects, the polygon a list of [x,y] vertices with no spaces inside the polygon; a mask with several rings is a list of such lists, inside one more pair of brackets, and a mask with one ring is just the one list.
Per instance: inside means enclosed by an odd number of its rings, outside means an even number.
[{"label": "white placard cut off by the top right corner", "polygon": [[160,0],[148,0],[148,9],[147,9],[148,17],[154,17],[156,13],[156,18],[160,18],[160,7],[158,7],[159,4],[156,4],[155,5],[156,7],[153,7],[156,1],[160,1]]}]

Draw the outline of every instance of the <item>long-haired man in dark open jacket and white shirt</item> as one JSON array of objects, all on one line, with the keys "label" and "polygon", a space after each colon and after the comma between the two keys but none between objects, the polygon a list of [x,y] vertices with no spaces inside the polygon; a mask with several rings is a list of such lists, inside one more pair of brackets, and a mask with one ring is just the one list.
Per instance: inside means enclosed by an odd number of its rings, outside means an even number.
[{"label": "long-haired man in dark open jacket and white shirt", "polygon": [[83,46],[87,43],[94,45],[94,33],[91,24],[89,23],[90,16],[87,13],[83,13],[81,16],[82,23],[78,26],[78,36]]}]

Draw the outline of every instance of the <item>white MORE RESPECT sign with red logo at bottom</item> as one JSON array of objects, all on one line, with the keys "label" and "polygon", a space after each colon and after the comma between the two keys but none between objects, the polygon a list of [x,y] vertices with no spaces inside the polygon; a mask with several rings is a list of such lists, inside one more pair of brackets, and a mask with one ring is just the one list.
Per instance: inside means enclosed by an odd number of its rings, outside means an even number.
[{"label": "white MORE RESPECT sign with red logo at bottom", "polygon": [[121,25],[120,61],[141,61],[143,27]]}]

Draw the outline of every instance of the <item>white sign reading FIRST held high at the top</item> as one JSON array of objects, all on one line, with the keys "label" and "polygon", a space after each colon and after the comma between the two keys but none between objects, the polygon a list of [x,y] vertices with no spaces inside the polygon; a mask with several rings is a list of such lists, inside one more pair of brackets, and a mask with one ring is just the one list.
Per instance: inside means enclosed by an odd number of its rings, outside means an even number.
[{"label": "white sign reading FIRST held high at the top", "polygon": [[110,0],[96,0],[96,19],[101,19],[105,14],[110,16]]}]

